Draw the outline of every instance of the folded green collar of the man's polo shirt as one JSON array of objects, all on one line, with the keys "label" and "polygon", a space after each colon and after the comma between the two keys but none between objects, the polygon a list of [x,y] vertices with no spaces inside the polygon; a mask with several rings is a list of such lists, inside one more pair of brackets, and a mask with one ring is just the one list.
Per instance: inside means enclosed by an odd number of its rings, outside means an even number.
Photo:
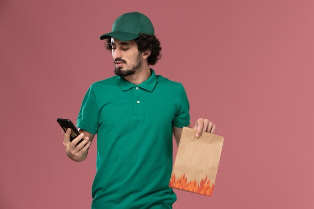
[{"label": "folded green collar of the man's polo shirt", "polygon": [[[127,80],[125,80],[123,76],[117,76],[117,77],[118,77],[117,79],[118,83],[123,91],[126,91],[132,88],[133,86],[136,86],[135,84],[132,84],[128,82]],[[155,72],[154,70],[150,68],[150,77],[143,83],[139,84],[138,86],[142,89],[152,92],[152,90],[154,89],[156,85],[156,81],[157,81],[157,78],[156,78]]]}]

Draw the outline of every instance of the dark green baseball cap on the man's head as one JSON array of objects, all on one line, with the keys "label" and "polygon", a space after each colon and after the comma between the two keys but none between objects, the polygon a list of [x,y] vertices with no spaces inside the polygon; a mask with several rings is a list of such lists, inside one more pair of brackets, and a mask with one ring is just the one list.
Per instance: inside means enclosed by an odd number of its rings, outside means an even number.
[{"label": "dark green baseball cap on the man's head", "polygon": [[136,39],[140,33],[154,35],[154,29],[145,15],[133,12],[118,17],[112,25],[112,32],[103,34],[99,38],[103,40],[112,37],[120,41],[130,41]]}]

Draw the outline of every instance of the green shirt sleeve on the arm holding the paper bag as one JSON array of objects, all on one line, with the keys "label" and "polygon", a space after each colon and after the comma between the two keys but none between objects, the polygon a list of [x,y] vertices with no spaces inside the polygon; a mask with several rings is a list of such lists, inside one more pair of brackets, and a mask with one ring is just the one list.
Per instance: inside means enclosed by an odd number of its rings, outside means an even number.
[{"label": "green shirt sleeve on the arm holding the paper bag", "polygon": [[190,125],[190,104],[184,87],[181,85],[181,92],[178,98],[177,112],[173,121],[173,126],[182,128]]}]

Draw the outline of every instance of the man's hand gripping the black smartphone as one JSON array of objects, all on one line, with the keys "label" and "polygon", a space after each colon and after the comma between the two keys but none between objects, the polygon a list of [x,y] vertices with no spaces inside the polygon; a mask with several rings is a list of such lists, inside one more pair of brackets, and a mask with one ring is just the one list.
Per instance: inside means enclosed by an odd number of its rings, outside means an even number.
[{"label": "man's hand gripping the black smartphone", "polygon": [[[84,133],[81,133],[75,139],[73,139],[72,142],[70,142],[70,133],[71,129],[68,128],[67,132],[64,133],[63,145],[66,148],[66,152],[69,158],[76,162],[81,162],[87,157],[88,148],[91,144],[91,141],[89,141],[88,136],[84,137]],[[77,144],[83,138],[84,140],[81,141],[81,143]]]}]

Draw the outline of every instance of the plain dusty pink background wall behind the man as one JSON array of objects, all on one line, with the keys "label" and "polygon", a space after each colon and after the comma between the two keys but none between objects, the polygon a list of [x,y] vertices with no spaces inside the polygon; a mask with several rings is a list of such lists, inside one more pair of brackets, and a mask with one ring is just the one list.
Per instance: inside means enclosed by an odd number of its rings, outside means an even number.
[{"label": "plain dusty pink background wall behind the man", "polygon": [[132,11],[154,24],[153,69],[184,84],[192,125],[225,137],[213,197],[175,190],[174,208],[314,208],[314,2],[186,2],[0,1],[0,208],[90,207],[96,143],[71,161],[56,118],[76,121],[113,75],[98,37]]}]

